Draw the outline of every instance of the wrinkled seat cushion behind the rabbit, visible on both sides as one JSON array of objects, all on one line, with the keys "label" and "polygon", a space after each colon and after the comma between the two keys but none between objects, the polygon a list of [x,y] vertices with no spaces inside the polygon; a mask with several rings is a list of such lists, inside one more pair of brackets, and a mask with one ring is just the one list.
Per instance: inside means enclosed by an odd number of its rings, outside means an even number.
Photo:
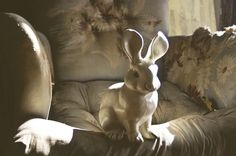
[{"label": "wrinkled seat cushion behind the rabbit, visible on both sides", "polygon": [[[51,119],[68,125],[101,132],[98,120],[103,92],[115,81],[60,82],[53,94]],[[208,110],[169,82],[163,82],[153,123],[164,123],[184,115],[205,114]]]}]

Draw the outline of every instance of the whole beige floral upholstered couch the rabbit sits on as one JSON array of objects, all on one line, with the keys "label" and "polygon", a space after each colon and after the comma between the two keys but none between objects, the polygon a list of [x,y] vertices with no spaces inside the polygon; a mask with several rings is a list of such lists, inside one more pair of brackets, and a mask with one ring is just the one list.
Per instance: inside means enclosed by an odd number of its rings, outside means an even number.
[{"label": "whole beige floral upholstered couch the rabbit sits on", "polygon": [[[33,154],[46,148],[52,156],[235,155],[234,27],[222,32],[199,28],[193,35],[168,37],[169,50],[158,61],[162,85],[151,128],[157,139],[130,143],[103,134],[97,118],[101,93],[122,81],[128,68],[122,31],[138,30],[147,49],[157,31],[168,32],[166,9],[163,0],[58,1],[44,22],[32,20],[44,35],[22,17],[2,14],[1,134],[6,135],[1,146],[6,155],[13,147],[19,153],[23,149],[9,139],[22,123],[18,137],[33,140],[18,142],[33,144]],[[27,133],[21,133],[25,129]],[[43,134],[37,136],[37,131]],[[37,139],[49,142],[50,149],[37,148]]]}]

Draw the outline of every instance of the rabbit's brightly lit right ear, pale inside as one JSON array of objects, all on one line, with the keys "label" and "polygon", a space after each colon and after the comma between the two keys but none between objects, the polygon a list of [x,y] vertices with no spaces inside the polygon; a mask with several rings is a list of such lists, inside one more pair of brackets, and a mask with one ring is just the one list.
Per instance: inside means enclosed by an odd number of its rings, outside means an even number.
[{"label": "rabbit's brightly lit right ear, pale inside", "polygon": [[156,60],[165,55],[168,48],[169,42],[167,38],[161,31],[159,31],[157,35],[152,39],[144,59],[154,63],[156,62]]}]

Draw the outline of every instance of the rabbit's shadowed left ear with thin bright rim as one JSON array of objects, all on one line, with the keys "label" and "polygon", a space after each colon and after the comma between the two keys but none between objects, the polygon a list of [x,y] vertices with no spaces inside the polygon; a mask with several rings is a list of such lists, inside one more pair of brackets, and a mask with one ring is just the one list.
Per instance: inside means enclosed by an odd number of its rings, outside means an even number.
[{"label": "rabbit's shadowed left ear with thin bright rim", "polygon": [[143,49],[143,37],[134,29],[126,29],[123,34],[123,47],[131,63],[140,62]]}]

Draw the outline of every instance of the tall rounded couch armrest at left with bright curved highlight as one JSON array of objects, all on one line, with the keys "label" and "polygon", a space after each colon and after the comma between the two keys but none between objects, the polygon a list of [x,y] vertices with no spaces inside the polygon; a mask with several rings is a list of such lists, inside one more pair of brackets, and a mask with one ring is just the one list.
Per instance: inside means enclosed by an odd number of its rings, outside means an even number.
[{"label": "tall rounded couch armrest at left with bright curved highlight", "polygon": [[0,21],[0,135],[8,153],[19,125],[48,117],[52,88],[45,49],[33,27],[13,13],[0,13]]}]

